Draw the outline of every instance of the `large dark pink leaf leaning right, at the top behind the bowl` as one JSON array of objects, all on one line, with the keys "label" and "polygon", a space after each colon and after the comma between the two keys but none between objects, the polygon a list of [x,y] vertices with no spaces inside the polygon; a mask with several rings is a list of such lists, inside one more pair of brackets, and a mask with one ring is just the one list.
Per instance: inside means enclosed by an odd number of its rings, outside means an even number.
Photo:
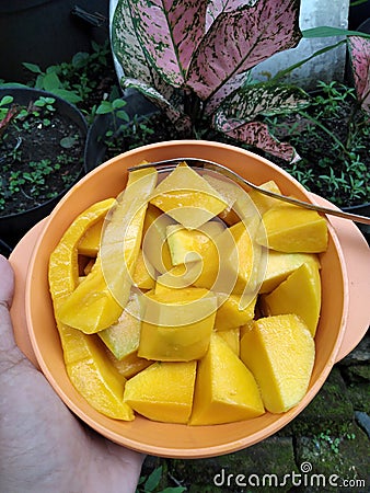
[{"label": "large dark pink leaf leaning right, at the top behind the bowl", "polygon": [[259,0],[221,12],[194,54],[187,85],[207,100],[236,74],[297,46],[299,8],[299,0]]}]

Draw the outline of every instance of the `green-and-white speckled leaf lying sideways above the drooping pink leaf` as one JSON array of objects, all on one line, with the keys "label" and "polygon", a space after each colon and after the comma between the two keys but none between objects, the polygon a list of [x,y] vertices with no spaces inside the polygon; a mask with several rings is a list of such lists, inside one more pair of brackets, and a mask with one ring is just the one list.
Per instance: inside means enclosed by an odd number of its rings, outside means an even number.
[{"label": "green-and-white speckled leaf lying sideways above the drooping pink leaf", "polygon": [[279,115],[309,105],[310,96],[303,89],[261,82],[231,94],[217,113],[224,113],[229,118],[251,122],[258,115]]}]

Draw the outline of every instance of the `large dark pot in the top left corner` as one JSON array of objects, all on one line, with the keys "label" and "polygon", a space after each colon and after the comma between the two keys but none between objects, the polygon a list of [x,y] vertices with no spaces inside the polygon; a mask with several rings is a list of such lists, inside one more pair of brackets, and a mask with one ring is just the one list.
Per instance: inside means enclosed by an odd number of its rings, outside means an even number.
[{"label": "large dark pot in the top left corner", "polygon": [[42,69],[108,38],[109,0],[0,2],[0,79],[26,82],[24,61]]}]

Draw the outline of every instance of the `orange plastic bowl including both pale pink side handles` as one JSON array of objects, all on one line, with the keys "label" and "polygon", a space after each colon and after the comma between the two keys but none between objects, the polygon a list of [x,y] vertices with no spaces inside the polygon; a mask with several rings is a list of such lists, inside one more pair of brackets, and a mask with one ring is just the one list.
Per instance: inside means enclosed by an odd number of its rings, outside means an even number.
[{"label": "orange plastic bowl including both pale pink side handles", "polygon": [[125,187],[127,168],[143,159],[158,161],[178,157],[210,159],[255,183],[275,180],[285,194],[326,203],[310,195],[277,165],[232,146],[172,141],[135,149],[82,179],[49,218],[15,249],[11,262],[18,283],[11,314],[18,344],[41,367],[65,403],[92,428],[113,442],[150,455],[201,458],[233,452],[263,440],[287,425],[312,401],[333,365],[351,351],[366,332],[368,276],[363,265],[369,262],[369,249],[354,223],[329,218],[328,248],[321,255],[322,313],[315,337],[316,358],[309,390],[297,406],[284,414],[267,412],[257,419],[215,426],[165,424],[140,416],[129,423],[108,419],[81,398],[67,376],[48,289],[48,259],[79,213],[96,200],[117,195]]}]

